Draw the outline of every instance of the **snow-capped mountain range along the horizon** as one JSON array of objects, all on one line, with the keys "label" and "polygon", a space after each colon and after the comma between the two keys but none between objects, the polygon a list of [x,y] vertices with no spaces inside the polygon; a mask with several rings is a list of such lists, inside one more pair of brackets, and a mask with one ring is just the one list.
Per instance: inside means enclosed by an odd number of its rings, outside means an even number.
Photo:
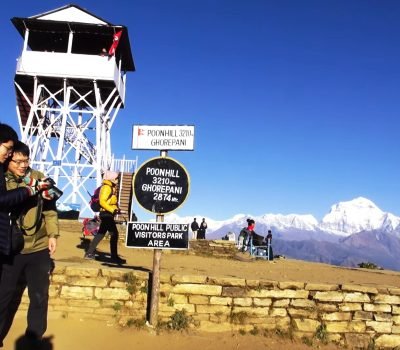
[{"label": "snow-capped mountain range along the horizon", "polygon": [[[166,216],[166,222],[191,223],[203,216]],[[206,217],[207,239],[220,239],[229,232],[236,237],[247,218],[256,222],[255,232],[273,233],[274,254],[339,266],[373,262],[385,269],[400,270],[400,217],[379,209],[371,200],[358,197],[334,204],[321,221],[312,215],[237,214],[216,221]]]}]

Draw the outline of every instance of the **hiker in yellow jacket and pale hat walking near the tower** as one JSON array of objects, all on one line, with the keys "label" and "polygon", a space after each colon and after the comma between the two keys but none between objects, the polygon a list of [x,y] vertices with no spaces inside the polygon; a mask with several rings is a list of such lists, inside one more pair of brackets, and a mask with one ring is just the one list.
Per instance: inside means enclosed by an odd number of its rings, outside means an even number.
[{"label": "hiker in yellow jacket and pale hat walking near the tower", "polygon": [[118,255],[118,229],[114,217],[120,213],[117,198],[117,178],[118,173],[107,170],[103,176],[103,182],[99,193],[100,204],[100,227],[97,235],[93,238],[85,253],[84,258],[95,259],[97,245],[104,238],[107,231],[110,232],[110,253],[111,261],[116,264],[125,264],[126,260]]}]

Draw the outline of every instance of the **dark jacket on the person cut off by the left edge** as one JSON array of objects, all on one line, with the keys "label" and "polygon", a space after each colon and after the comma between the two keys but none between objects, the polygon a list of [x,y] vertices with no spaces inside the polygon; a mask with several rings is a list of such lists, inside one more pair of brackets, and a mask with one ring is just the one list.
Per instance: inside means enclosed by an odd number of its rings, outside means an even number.
[{"label": "dark jacket on the person cut off by the left edge", "polygon": [[7,191],[4,168],[0,164],[0,255],[10,255],[11,252],[11,208],[24,202],[28,197],[29,191],[26,188]]}]

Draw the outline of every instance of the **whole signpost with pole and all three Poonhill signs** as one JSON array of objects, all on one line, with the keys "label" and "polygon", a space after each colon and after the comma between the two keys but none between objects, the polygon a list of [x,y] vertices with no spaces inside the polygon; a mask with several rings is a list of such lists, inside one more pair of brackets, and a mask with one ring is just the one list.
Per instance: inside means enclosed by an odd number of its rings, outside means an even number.
[{"label": "whole signpost with pole and all three Poonhill signs", "polygon": [[167,150],[193,150],[193,144],[193,126],[140,125],[133,128],[132,148],[160,150],[160,157],[145,162],[133,178],[136,200],[144,209],[156,214],[156,224],[128,223],[126,233],[127,247],[147,245],[154,249],[149,315],[152,327],[158,322],[162,249],[188,249],[189,246],[188,224],[164,223],[164,214],[181,206],[189,193],[186,169],[168,158]]}]

